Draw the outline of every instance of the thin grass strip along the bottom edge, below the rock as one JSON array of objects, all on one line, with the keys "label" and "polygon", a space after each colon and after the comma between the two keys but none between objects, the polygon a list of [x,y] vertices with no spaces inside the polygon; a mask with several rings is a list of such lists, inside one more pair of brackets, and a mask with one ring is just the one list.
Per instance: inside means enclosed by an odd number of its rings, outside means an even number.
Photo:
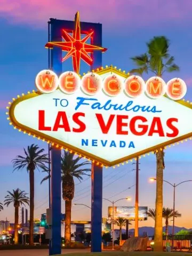
[{"label": "thin grass strip along the bottom edge, below the rock", "polygon": [[[63,256],[81,256],[81,253],[67,253]],[[84,253],[87,256],[190,256],[187,252],[98,252]],[[55,255],[57,256],[57,255]],[[61,256],[58,255],[58,256]]]}]

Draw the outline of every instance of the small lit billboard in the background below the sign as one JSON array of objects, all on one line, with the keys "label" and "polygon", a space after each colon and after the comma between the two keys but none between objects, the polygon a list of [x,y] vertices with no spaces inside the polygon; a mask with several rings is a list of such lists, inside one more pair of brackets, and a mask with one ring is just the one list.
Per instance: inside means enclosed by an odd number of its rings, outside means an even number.
[{"label": "small lit billboard in the background below the sign", "polygon": [[[147,220],[147,206],[139,206],[139,220]],[[113,218],[113,207],[108,207],[108,217]],[[135,219],[134,206],[114,206],[114,219],[125,218],[129,220]]]}]

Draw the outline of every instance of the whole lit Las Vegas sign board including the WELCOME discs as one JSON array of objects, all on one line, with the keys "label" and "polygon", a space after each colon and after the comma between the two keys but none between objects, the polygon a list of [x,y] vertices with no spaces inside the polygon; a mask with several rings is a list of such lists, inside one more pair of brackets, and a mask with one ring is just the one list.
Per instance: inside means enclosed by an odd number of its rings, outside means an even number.
[{"label": "whole lit Las Vegas sign board including the WELCOME discs", "polygon": [[10,102],[10,124],[98,165],[118,165],[192,135],[192,105],[181,100],[187,87],[180,78],[145,82],[101,67],[83,77],[42,70],[35,83],[38,91]]}]

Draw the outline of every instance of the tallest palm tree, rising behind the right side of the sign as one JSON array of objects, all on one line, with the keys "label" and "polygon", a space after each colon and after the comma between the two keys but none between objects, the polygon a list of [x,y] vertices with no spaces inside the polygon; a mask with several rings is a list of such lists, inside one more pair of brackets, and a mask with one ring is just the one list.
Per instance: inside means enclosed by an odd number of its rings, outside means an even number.
[{"label": "tallest palm tree, rising behind the right side of the sign", "polygon": [[[154,37],[147,43],[147,52],[131,58],[137,68],[132,69],[130,73],[154,73],[162,77],[165,72],[178,71],[179,67],[174,63],[174,57],[170,56],[170,43],[165,36]],[[155,217],[155,247],[154,251],[163,251],[163,170],[164,151],[156,151],[156,217]]]}]

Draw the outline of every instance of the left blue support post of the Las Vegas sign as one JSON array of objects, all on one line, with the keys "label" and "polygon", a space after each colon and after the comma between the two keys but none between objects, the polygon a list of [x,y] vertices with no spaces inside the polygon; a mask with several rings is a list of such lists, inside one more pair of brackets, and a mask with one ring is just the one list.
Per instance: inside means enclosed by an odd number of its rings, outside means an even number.
[{"label": "left blue support post of the Las Vegas sign", "polygon": [[[61,41],[60,30],[51,23],[51,41]],[[59,76],[62,73],[62,52],[51,50],[51,69]],[[51,212],[52,239],[49,255],[61,254],[61,150],[51,149]]]}]

